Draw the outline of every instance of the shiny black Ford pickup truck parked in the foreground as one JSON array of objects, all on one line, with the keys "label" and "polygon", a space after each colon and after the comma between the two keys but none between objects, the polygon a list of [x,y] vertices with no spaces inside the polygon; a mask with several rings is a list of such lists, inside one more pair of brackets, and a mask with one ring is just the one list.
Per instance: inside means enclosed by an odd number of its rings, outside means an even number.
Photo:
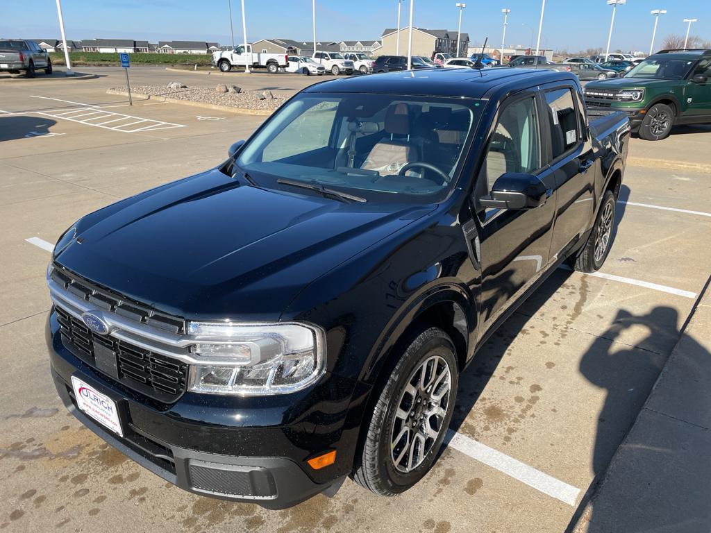
[{"label": "shiny black Ford pickup truck parked in the foreground", "polygon": [[322,82],[220,166],[82,217],[47,271],[60,397],[203,495],[411,488],[481,345],[609,252],[629,122],[581,95],[547,70]]}]

